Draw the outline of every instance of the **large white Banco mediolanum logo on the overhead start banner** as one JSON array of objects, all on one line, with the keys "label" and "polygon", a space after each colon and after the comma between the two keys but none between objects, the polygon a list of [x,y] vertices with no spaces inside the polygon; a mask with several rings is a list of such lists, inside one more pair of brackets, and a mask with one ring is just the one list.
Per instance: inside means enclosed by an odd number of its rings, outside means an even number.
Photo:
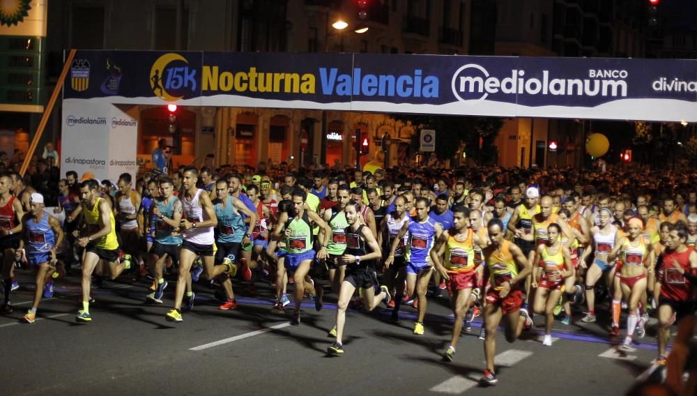
[{"label": "large white Banco mediolanum logo on the overhead start banner", "polygon": [[[614,70],[617,71],[617,70]],[[605,78],[607,75],[611,78]],[[613,77],[618,77],[614,79]],[[516,95],[551,96],[627,96],[627,77],[625,70],[618,73],[597,73],[590,70],[590,78],[553,78],[549,70],[542,70],[542,79],[528,78],[526,70],[512,69],[510,75],[499,78],[490,75],[481,65],[468,63],[457,69],[452,76],[452,93],[458,100],[483,100],[489,94],[505,93]]]}]

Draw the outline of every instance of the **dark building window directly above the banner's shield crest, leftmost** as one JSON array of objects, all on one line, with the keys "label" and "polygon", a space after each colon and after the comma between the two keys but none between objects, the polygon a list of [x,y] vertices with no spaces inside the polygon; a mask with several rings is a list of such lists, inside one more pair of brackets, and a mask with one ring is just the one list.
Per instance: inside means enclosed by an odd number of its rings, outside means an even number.
[{"label": "dark building window directly above the banner's shield crest, leftmost", "polygon": [[104,6],[74,6],[70,43],[78,50],[104,48]]}]

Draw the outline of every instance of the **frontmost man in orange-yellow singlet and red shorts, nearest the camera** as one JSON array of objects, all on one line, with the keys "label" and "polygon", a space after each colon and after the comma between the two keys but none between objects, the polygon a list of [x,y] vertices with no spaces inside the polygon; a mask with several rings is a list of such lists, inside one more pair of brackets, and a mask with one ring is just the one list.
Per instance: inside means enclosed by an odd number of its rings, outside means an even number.
[{"label": "frontmost man in orange-yellow singlet and red shorts, nearest the camera", "polygon": [[498,324],[505,315],[507,342],[514,342],[523,331],[524,325],[532,325],[533,320],[530,319],[528,312],[521,309],[523,291],[520,289],[521,281],[530,275],[532,267],[521,248],[503,238],[505,230],[501,220],[491,220],[487,229],[491,245],[483,249],[487,264],[484,267],[484,278],[489,280],[487,283],[491,284],[491,289],[486,291],[484,284],[480,288],[480,294],[486,296],[482,302],[486,328],[484,355],[487,359],[487,369],[484,370],[484,376],[480,381],[485,385],[496,385],[498,379],[493,356],[496,355]]}]

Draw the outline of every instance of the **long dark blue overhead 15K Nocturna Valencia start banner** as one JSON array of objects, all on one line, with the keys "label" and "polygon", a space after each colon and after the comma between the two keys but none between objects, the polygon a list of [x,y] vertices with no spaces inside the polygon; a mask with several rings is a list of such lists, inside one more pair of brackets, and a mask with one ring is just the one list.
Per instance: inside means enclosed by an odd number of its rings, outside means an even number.
[{"label": "long dark blue overhead 15K Nocturna Valencia start banner", "polygon": [[697,60],[78,51],[63,98],[697,122]]}]

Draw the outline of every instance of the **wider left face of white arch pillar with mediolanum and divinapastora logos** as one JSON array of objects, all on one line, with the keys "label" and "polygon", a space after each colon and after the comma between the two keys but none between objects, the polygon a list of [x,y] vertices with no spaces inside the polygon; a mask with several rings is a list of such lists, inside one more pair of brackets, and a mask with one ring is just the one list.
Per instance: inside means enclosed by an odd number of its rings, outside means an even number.
[{"label": "wider left face of white arch pillar with mediolanum and divinapastora logos", "polygon": [[85,172],[91,172],[99,180],[108,178],[109,107],[113,106],[87,100],[63,100],[61,176],[75,171],[78,178]]}]

